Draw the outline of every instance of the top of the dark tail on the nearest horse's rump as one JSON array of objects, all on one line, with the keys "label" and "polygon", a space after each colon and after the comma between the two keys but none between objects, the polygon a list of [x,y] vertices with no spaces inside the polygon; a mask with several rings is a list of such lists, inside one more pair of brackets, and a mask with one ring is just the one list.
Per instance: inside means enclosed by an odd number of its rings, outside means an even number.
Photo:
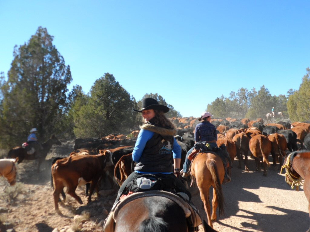
[{"label": "top of the dark tail on the nearest horse's rump", "polygon": [[168,232],[168,223],[161,217],[149,217],[141,222],[139,232]]}]

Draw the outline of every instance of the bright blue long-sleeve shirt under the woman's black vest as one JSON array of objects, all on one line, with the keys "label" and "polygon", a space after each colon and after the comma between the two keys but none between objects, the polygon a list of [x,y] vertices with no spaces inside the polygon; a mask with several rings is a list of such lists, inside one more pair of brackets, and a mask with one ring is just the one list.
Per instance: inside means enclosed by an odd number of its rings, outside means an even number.
[{"label": "bright blue long-sleeve shirt under the woman's black vest", "polygon": [[[139,162],[146,143],[148,142],[148,140],[150,140],[153,137],[154,133],[155,132],[149,131],[149,130],[144,130],[144,129],[140,130],[137,141],[135,143],[135,148],[132,152],[132,160],[133,161],[135,161],[136,163]],[[175,139],[174,139],[173,146],[172,146],[172,156],[174,159],[180,159],[181,158],[181,147]],[[137,170],[135,170],[135,172],[145,173],[145,172],[140,172]],[[148,173],[152,173],[152,172],[148,172]],[[172,172],[169,172],[169,173],[164,172],[162,174],[171,174],[171,173]],[[155,174],[155,173],[152,173],[152,174]]]}]

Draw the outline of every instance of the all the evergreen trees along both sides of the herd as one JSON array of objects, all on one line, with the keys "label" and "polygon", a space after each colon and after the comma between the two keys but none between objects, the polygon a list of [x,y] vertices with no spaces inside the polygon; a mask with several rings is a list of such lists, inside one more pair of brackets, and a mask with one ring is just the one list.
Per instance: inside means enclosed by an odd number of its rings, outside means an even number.
[{"label": "all the evergreen trees along both sides of the herd", "polygon": [[[52,134],[69,140],[129,133],[142,124],[133,109],[141,109],[144,97],[168,106],[167,117],[182,117],[158,93],[146,93],[137,101],[110,73],[96,79],[88,93],[80,85],[69,91],[70,66],[52,42],[47,29],[39,27],[27,43],[14,47],[7,77],[0,75],[1,148],[20,145],[32,127],[38,129],[41,142]],[[258,91],[240,88],[216,98],[206,110],[219,118],[263,118],[275,106],[293,121],[309,120],[309,75],[307,68],[299,90],[290,89],[287,95],[272,96],[264,86]]]}]

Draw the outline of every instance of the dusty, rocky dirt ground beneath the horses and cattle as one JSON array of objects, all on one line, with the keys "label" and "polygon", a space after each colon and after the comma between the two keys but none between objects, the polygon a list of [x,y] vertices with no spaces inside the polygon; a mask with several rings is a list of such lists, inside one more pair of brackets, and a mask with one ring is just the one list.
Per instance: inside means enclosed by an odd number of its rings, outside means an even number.
[{"label": "dusty, rocky dirt ground beneath the horses and cattle", "polygon": [[[115,199],[113,190],[102,191],[103,196],[98,198],[94,194],[92,203],[87,205],[85,188],[78,187],[76,192],[83,204],[67,195],[67,201],[60,204],[63,216],[55,213],[50,163],[52,157],[69,154],[65,149],[69,151],[72,143],[66,145],[63,150],[54,148],[51,151],[46,167],[39,173],[37,161],[19,164],[18,183],[14,188],[9,187],[5,179],[0,179],[0,219],[7,231],[102,231],[102,223]],[[223,186],[225,216],[214,222],[214,229],[220,232],[306,231],[309,228],[308,202],[302,189],[299,192],[291,190],[284,175],[273,167],[269,168],[268,176],[263,177],[262,172],[254,171],[254,160],[250,159],[249,165],[251,171],[245,172],[237,169],[237,161],[234,161],[232,181]],[[192,187],[192,193],[194,204],[206,218],[197,188]]]}]

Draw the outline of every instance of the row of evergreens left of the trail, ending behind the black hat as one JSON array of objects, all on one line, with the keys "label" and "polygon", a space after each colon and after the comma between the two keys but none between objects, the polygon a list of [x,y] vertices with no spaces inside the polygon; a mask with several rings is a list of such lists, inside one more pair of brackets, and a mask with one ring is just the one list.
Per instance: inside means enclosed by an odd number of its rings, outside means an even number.
[{"label": "row of evergreens left of the trail, ending behind the black hat", "polygon": [[65,65],[46,28],[39,27],[29,41],[14,47],[7,78],[0,75],[0,146],[10,148],[27,139],[32,127],[41,142],[52,134],[60,138],[102,137],[139,129],[144,97],[153,97],[170,111],[168,117],[181,117],[157,93],[146,93],[136,101],[115,79],[105,73],[89,93],[79,85],[69,92],[70,66]]}]

